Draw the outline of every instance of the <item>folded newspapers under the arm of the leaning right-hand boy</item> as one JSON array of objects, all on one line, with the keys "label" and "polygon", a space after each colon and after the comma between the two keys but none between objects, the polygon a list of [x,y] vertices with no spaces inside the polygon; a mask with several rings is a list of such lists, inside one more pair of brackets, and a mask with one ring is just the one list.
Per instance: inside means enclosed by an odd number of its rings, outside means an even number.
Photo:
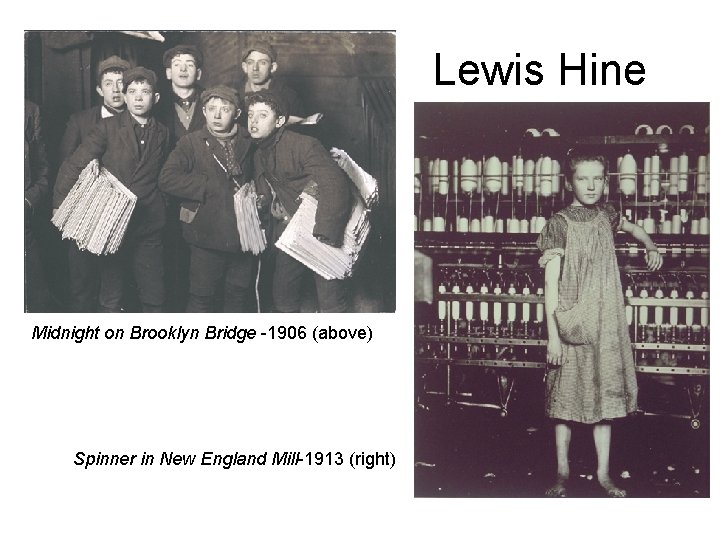
[{"label": "folded newspapers under the arm of the leaning right-hand boy", "polygon": [[330,153],[357,188],[342,246],[329,246],[313,236],[317,199],[309,193],[300,195],[300,206],[275,245],[325,279],[343,279],[352,275],[370,233],[370,210],[378,202],[377,181],[343,150],[333,148]]}]

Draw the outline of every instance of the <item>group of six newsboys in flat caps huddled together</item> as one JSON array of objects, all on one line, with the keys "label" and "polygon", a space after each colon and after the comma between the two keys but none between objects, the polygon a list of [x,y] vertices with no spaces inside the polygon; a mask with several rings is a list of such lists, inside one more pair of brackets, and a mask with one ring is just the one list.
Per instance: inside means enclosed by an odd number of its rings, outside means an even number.
[{"label": "group of six newsboys in flat caps huddled together", "polygon": [[[173,47],[163,62],[169,98],[160,100],[153,71],[113,56],[98,66],[102,105],[68,122],[53,208],[93,159],[137,196],[117,253],[96,256],[68,242],[71,309],[126,309],[134,282],[143,311],[164,311],[173,305],[168,295],[182,295],[184,265],[187,311],[257,310],[259,257],[242,251],[233,203],[235,193],[254,182],[264,201],[258,212],[270,246],[263,260],[273,268],[272,309],[299,311],[302,282],[312,272],[275,249],[274,240],[312,180],[319,203],[314,235],[341,245],[350,180],[319,141],[286,129],[302,120],[302,105],[273,77],[277,56],[270,44],[254,43],[243,53],[242,92],[226,85],[203,89],[203,56],[194,46]],[[180,232],[184,242],[176,243]],[[314,277],[320,311],[347,311],[345,283]]]}]

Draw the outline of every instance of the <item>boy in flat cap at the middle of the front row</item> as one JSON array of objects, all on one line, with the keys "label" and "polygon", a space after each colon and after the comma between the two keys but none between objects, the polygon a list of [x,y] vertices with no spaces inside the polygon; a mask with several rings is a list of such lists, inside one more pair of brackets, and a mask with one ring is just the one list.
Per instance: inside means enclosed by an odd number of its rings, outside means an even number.
[{"label": "boy in flat cap at the middle of the front row", "polygon": [[205,127],[178,142],[160,175],[160,189],[180,198],[183,237],[190,244],[188,312],[255,311],[257,257],[240,248],[233,196],[252,179],[252,141],[236,123],[237,91],[224,85],[201,97]]}]

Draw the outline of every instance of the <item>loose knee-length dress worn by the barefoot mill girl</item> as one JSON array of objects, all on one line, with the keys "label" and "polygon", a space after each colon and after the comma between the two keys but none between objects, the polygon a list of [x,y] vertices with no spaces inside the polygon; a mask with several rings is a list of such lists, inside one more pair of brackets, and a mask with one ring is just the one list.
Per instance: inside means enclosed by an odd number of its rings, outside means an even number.
[{"label": "loose knee-length dress worn by the barefoot mill girl", "polygon": [[615,256],[612,207],[570,206],[543,229],[538,247],[544,266],[562,257],[558,309],[580,302],[590,343],[563,342],[567,361],[548,366],[545,413],[560,420],[596,423],[637,410],[637,380],[620,272]]}]

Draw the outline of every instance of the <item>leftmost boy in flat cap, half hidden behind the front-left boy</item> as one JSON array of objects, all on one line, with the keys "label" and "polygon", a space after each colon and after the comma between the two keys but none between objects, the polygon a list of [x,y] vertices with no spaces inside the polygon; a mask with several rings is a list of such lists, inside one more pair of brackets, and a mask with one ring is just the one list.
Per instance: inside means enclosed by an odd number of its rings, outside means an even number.
[{"label": "leftmost boy in flat cap, half hidden behind the front-left boy", "polygon": [[[60,142],[61,160],[70,157],[99,122],[125,110],[123,73],[128,69],[130,64],[119,56],[111,56],[100,62],[95,90],[103,98],[103,102],[70,116]],[[87,251],[81,251],[75,242],[69,241],[67,244],[70,310],[76,313],[95,311],[100,285],[98,258]]]}]

